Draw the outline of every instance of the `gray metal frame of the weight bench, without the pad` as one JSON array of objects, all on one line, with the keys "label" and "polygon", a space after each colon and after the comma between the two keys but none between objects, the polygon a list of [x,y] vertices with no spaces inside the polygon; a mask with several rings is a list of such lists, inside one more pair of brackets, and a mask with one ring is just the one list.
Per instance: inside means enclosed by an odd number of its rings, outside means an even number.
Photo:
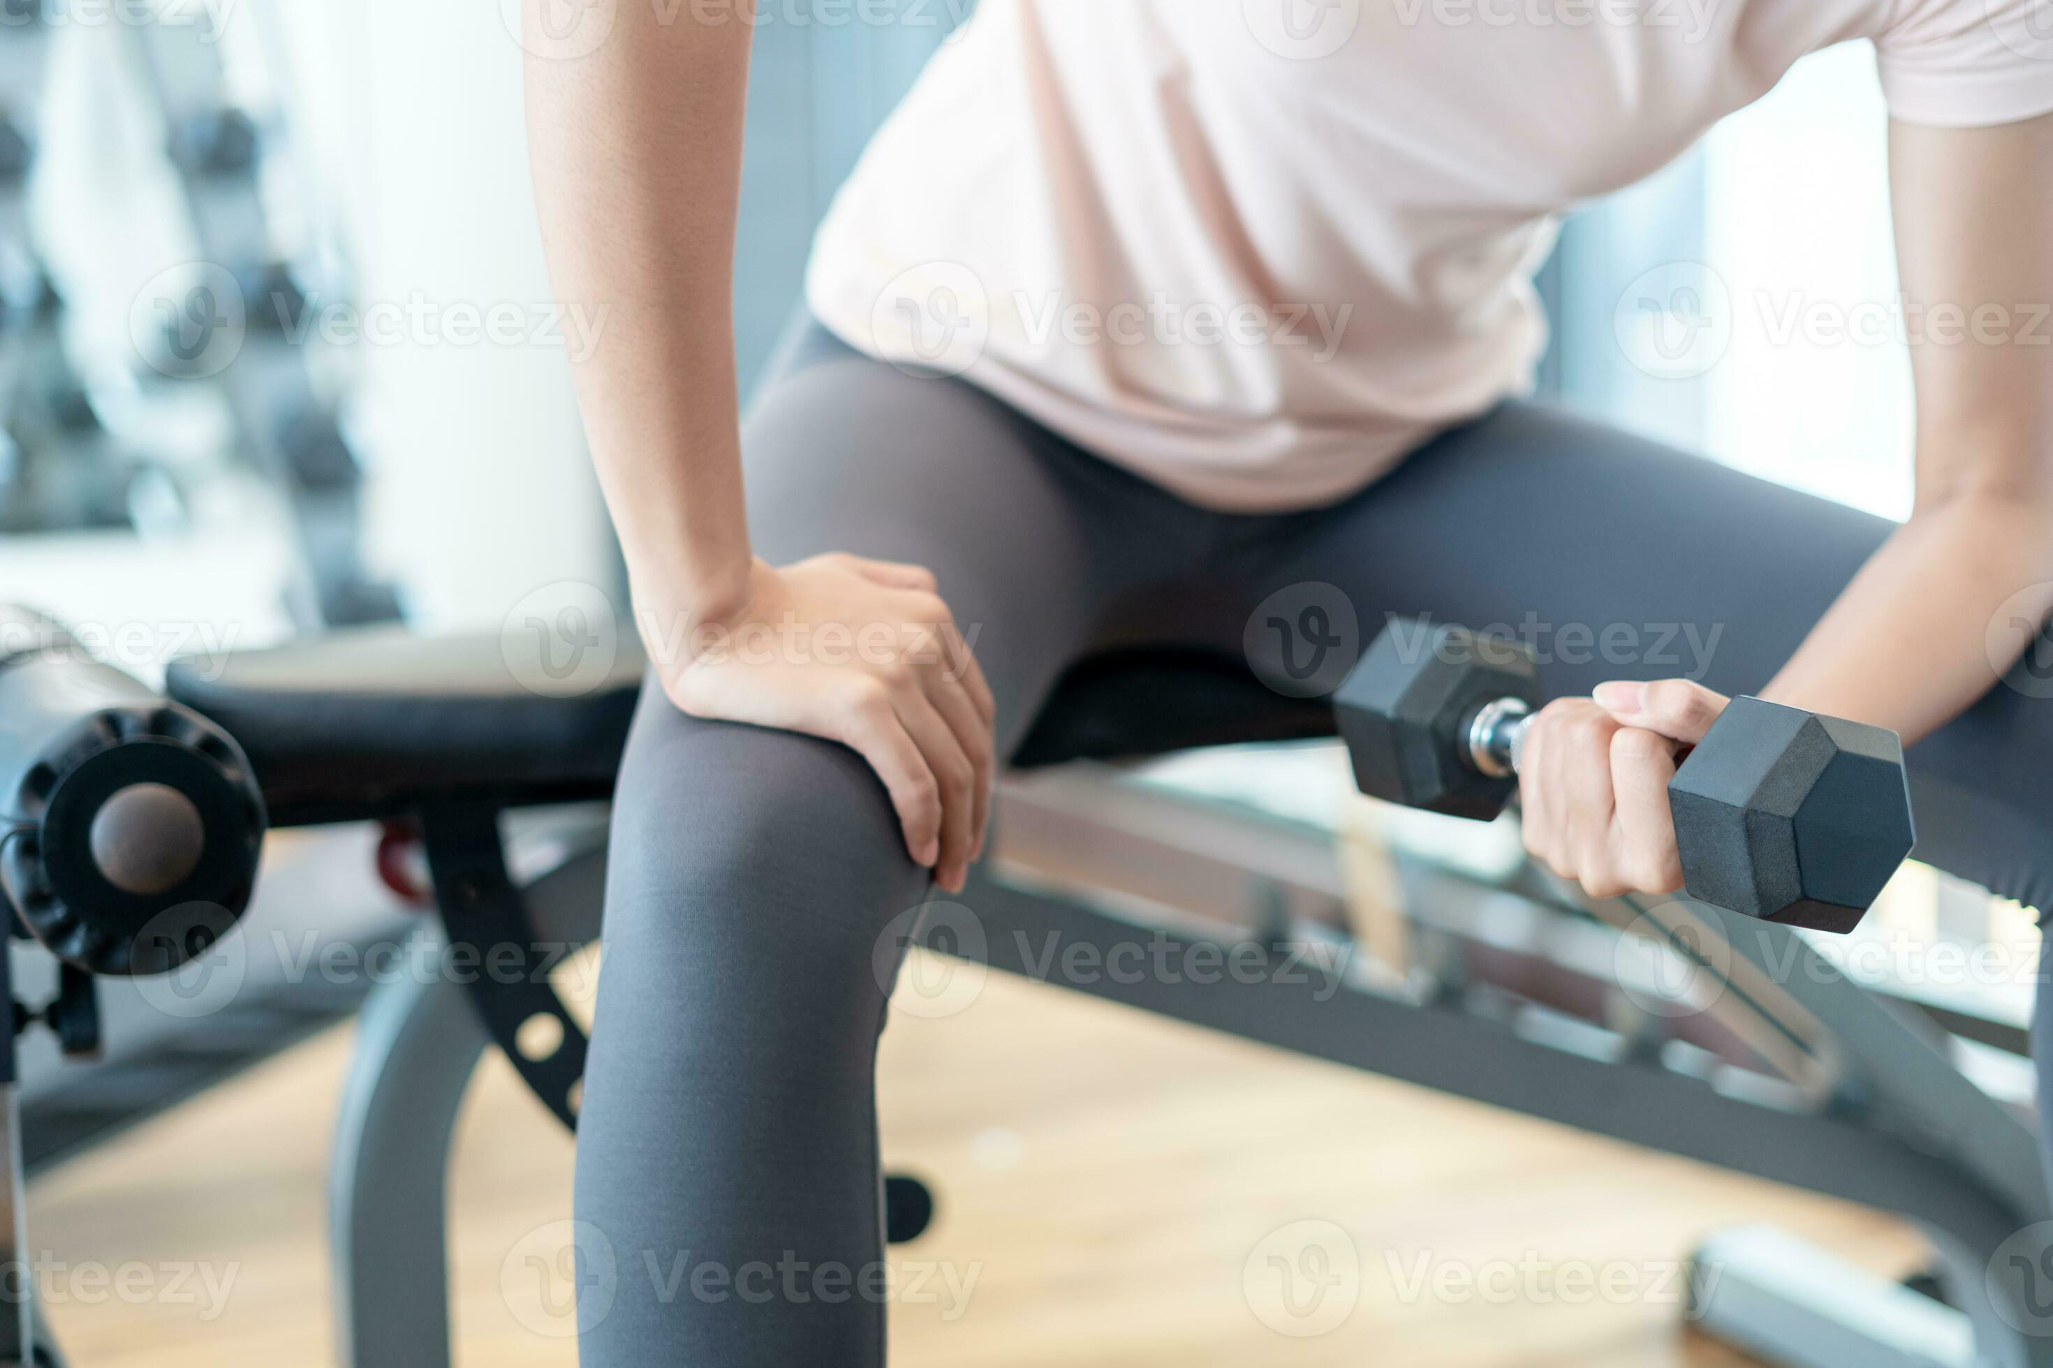
[{"label": "gray metal frame of the weight bench, without the pad", "polygon": [[[1156,833],[1230,820],[1213,804],[1178,804],[1105,779],[1102,767],[1072,767],[1063,777],[1072,781],[1063,802],[1096,792],[1100,808],[1141,812]],[[1031,798],[1022,802],[1014,788],[1006,802],[1002,820],[1033,824]],[[1848,1345],[1860,1345],[1862,1364],[2053,1368],[2053,1337],[2047,1337],[2053,1325],[2035,1306],[2039,1290],[2030,1284],[2032,1268],[2053,1268],[2039,1263],[2053,1257],[2047,1241],[2053,1224],[2045,1224],[2053,1220],[2053,1204],[2028,1118],[1963,1077],[1930,1019],[1850,982],[1782,927],[1702,904],[1581,902],[1529,884],[1511,894],[1400,855],[1412,907],[1456,909],[1439,923],[1441,935],[1454,935],[1449,927],[1460,923],[1464,900],[1486,898],[1501,909],[1513,898],[1554,919],[1636,921],[1640,929],[1673,937],[1706,972],[1720,962],[1725,991],[1710,1015],[1733,1038],[1755,1042],[1761,1056],[1776,1058],[1780,1044],[1780,1054],[1796,1062],[1788,1071],[1794,1079],[1780,1085],[1731,1067],[1677,1071],[1663,1064],[1659,1052],[1634,1048],[1630,1038],[1620,1038],[1616,1050],[1593,1050],[1589,1030],[1536,1030],[1532,1013],[1503,1011],[1503,995],[1464,993],[1458,976],[1437,989],[1419,991],[1415,982],[1388,991],[1353,974],[1347,989],[1318,1001],[1318,982],[1293,982],[1291,976],[1207,984],[1150,976],[1117,982],[1096,974],[1090,982],[1063,982],[1061,956],[1031,954],[1049,937],[1063,948],[1090,945],[1100,956],[1141,937],[1150,943],[1166,937],[1178,950],[1201,941],[1273,945],[1285,929],[1277,909],[1306,888],[1337,888],[1339,872],[1330,839],[1320,843],[1287,827],[1252,827],[1242,833],[1244,841],[1267,847],[1271,866],[1287,859],[1302,874],[1295,886],[1267,874],[1242,884],[1242,892],[1267,888],[1275,894],[1256,898],[1261,909],[1252,925],[1191,917],[1189,909],[1180,915],[1150,909],[1133,896],[1102,896],[1078,886],[1076,870],[1063,872],[1066,886],[1055,886],[1045,872],[1006,863],[1008,847],[1000,847],[990,868],[973,872],[957,900],[975,909],[983,923],[994,968],[1891,1210],[1930,1237],[1946,1304],[1907,1306],[1903,1288],[1852,1270],[1829,1280],[1829,1294],[1817,1292],[1817,1280],[1800,1290],[1776,1270],[1778,1259],[1790,1257],[1788,1239],[1706,1245],[1702,1257],[1718,1259],[1725,1276],[1712,1300],[1694,1306],[1692,1315],[1702,1327],[1776,1362],[1842,1366],[1856,1362],[1846,1358]],[[472,841],[493,831],[476,814],[466,829]],[[1205,839],[1211,835],[1217,833],[1203,833],[1193,845],[1209,843],[1215,855],[1217,843]],[[534,941],[585,943],[597,935],[604,841],[604,827],[589,824],[550,872],[519,890]],[[429,845],[435,847],[433,835]],[[495,859],[503,868],[503,857]],[[435,863],[446,866],[448,855]],[[1084,874],[1088,878],[1088,870]],[[1330,935],[1324,927],[1310,933]],[[437,929],[421,935],[427,948],[450,943],[450,933]],[[1706,954],[1710,945],[1733,954]],[[953,939],[938,948],[961,952]],[[1053,966],[1053,976],[1037,966]],[[427,976],[382,984],[363,1013],[331,1169],[343,1364],[443,1368],[450,1362],[450,1136],[476,1060],[497,1034],[476,1001],[478,995],[454,976]],[[575,1036],[571,1048],[581,1044]],[[1696,1058],[1708,1056],[1696,1052]],[[519,1058],[513,1062],[526,1067]],[[1749,1077],[1757,1085],[1747,1085]],[[2022,1261],[1991,1265],[2000,1247],[2020,1251],[2020,1241],[2030,1245]]]}]

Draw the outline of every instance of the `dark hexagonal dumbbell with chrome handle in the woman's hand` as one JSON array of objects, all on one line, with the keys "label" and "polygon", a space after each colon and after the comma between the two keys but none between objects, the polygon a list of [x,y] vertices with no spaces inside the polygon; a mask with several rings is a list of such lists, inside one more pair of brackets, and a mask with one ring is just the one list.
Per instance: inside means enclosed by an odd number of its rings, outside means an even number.
[{"label": "dark hexagonal dumbbell with chrome handle in the woman's hand", "polygon": [[[1332,695],[1355,783],[1497,816],[1540,710],[1536,679],[1521,642],[1394,619]],[[1757,697],[1735,697],[1690,751],[1669,812],[1692,898],[1819,931],[1852,931],[1913,841],[1895,732]]]}]

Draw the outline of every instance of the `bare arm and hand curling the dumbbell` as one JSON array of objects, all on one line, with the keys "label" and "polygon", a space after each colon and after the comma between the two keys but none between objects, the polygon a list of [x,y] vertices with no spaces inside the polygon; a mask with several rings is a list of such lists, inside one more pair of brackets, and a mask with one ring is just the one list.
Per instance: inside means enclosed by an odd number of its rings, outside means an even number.
[{"label": "bare arm and hand curling the dumbbell", "polygon": [[[1893,125],[1891,180],[1915,502],[1761,693],[1915,740],[1987,693],[2053,611],[2053,115]],[[1548,706],[1525,738],[1527,849],[1595,894],[1679,888],[1675,742],[1725,701],[1669,679]]]}]

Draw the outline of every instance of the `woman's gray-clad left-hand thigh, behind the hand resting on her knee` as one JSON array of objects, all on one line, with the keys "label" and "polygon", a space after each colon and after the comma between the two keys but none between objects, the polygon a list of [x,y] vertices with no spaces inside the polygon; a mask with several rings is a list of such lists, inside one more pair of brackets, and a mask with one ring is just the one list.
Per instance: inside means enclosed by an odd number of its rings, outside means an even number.
[{"label": "woman's gray-clad left-hand thigh, behind the hand resting on her knee", "polygon": [[1004,755],[1063,669],[1209,554],[1215,515],[967,384],[825,334],[795,353],[743,429],[756,554],[930,568],[992,683]]}]

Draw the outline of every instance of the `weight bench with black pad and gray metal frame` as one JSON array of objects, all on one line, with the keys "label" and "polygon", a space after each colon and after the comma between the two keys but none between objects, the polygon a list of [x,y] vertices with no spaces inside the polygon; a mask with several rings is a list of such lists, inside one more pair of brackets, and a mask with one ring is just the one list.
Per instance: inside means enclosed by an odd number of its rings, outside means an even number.
[{"label": "weight bench with black pad and gray metal frame", "polygon": [[[64,669],[84,671],[86,683],[68,683],[57,675]],[[273,827],[384,820],[388,831],[413,833],[439,911],[439,925],[421,929],[421,945],[501,966],[402,976],[382,984],[363,1011],[331,1188],[347,1364],[450,1362],[443,1171],[482,1048],[501,1046],[544,1105],[575,1126],[585,1036],[548,984],[546,960],[597,935],[606,833],[595,808],[579,818],[560,804],[610,796],[641,669],[624,652],[589,693],[542,697],[511,677],[493,636],[353,630],[175,665],[166,701],[133,681],[115,683],[123,677],[105,667],[0,660],[0,720],[76,695],[84,701],[57,712],[125,718],[101,730],[127,728],[142,745],[203,736],[224,773],[261,790]],[[1328,734],[1326,706],[1267,691],[1238,660],[1127,654],[1086,662],[1061,683],[1016,767],[1074,765],[1066,773],[1119,792],[1119,771],[1096,763]],[[8,745],[21,749],[18,738],[0,736],[0,761],[8,761],[0,779],[33,777]],[[43,753],[55,751],[43,736]],[[1915,747],[1918,855],[2000,894],[2053,904],[2053,863],[2043,855],[2053,851],[2053,812],[2032,783],[2047,755],[2053,708],[2006,689]],[[1993,781],[1977,783],[1977,775]],[[573,816],[536,847],[509,853],[501,818],[528,808]],[[961,894],[990,931],[996,968],[1045,974],[1024,948],[1049,935],[1109,952],[1137,935],[1176,948],[1265,948],[1289,933],[1287,898],[1242,927],[1141,925],[1131,900],[1098,898],[1010,863],[1008,812],[1024,808],[1000,806],[996,853]],[[23,886],[29,845],[8,849],[12,888]],[[1289,849],[1302,857],[1304,886],[1339,886],[1320,868],[1332,861],[1330,841],[1300,839]],[[1499,915],[1509,896],[1534,917],[1653,927],[1671,954],[1720,974],[1725,991],[1710,1015],[1727,1044],[1669,1048],[1655,1019],[1626,1030],[1597,1021],[1566,1036],[1536,1030],[1534,1013],[1503,1009],[1503,993],[1470,991],[1488,978],[1493,956],[1480,954],[1482,941],[1458,917],[1439,927],[1437,972],[1402,989],[1353,976],[1343,993],[1316,1001],[1316,984],[1285,976],[1209,984],[1096,976],[1066,987],[1885,1208],[1928,1233],[1944,1300],[1905,1300],[1895,1284],[1854,1276],[1819,1294],[1772,1265],[1739,1268],[1786,1257],[1774,1241],[1706,1251],[1735,1265],[1716,1284],[1735,1290],[1694,1313],[1774,1362],[2053,1368],[2053,1325],[2035,1313],[2030,1282],[2041,1259],[2053,1257],[2037,1126],[1963,1077],[1930,1017],[1846,980],[1780,925],[1702,904],[1585,900],[1529,872],[1486,886],[1417,861],[1404,868],[1421,894],[1447,907],[1484,896]],[[51,939],[41,925],[37,935]],[[1708,956],[1706,943],[1731,954]],[[1063,982],[1059,966],[1051,980]],[[1616,984],[1599,989],[1603,1007],[1616,1007]],[[1610,1034],[1618,1048],[1593,1046],[1591,1032]]]}]

